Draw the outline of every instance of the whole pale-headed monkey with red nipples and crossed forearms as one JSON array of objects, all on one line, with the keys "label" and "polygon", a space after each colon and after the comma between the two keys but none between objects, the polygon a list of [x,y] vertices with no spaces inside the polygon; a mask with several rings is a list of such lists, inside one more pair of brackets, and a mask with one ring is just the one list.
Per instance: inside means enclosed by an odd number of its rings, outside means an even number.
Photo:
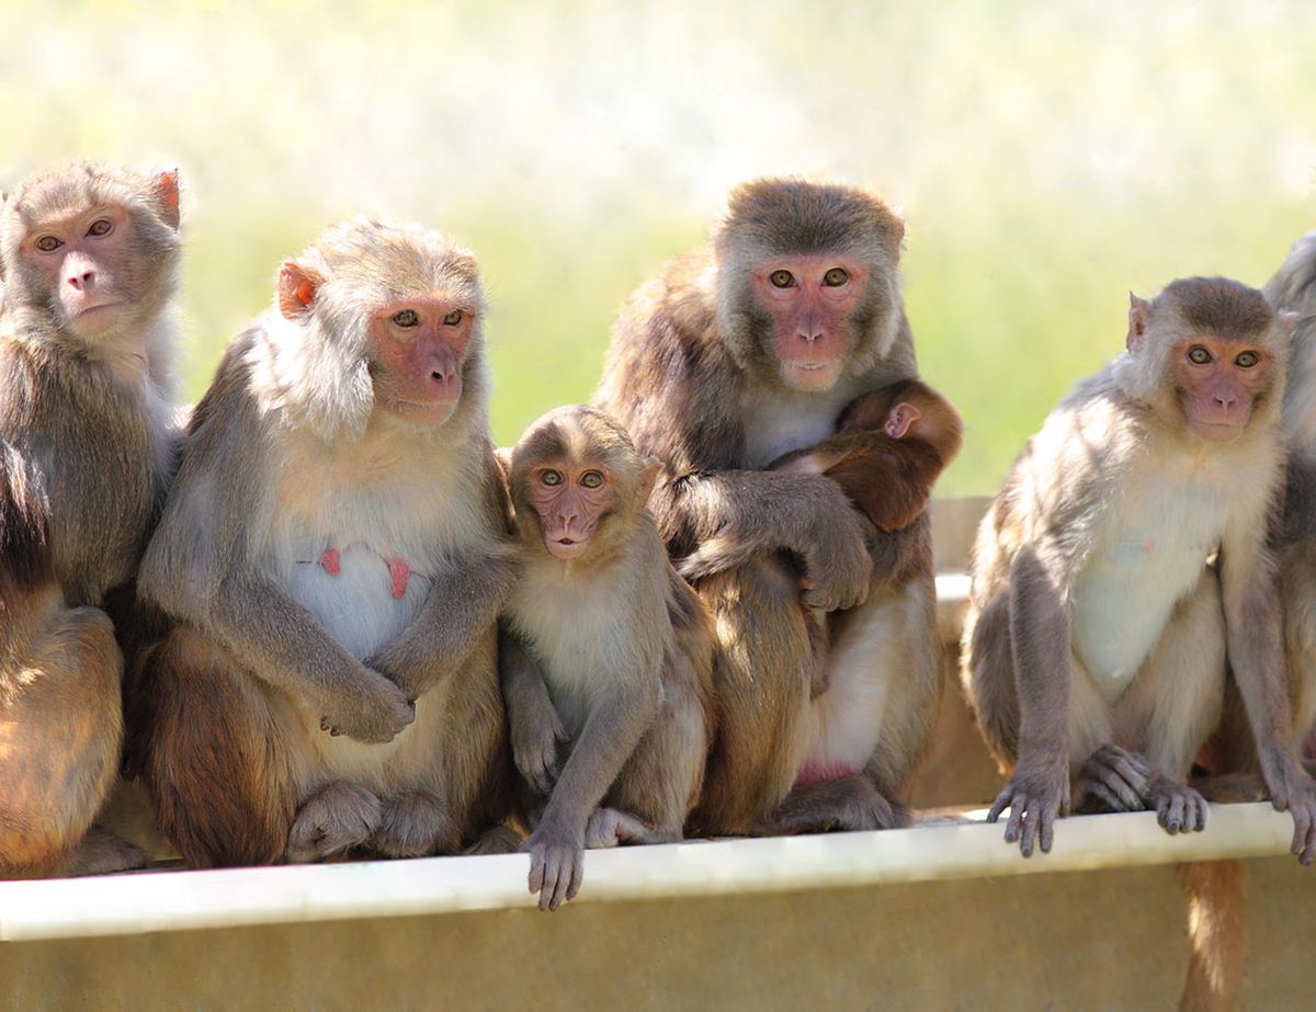
[{"label": "whole pale-headed monkey with red nipples and crossed forearms", "polygon": [[138,584],[178,622],[143,772],[188,863],[451,854],[503,815],[484,308],[442,237],[338,225],[197,405]]}]

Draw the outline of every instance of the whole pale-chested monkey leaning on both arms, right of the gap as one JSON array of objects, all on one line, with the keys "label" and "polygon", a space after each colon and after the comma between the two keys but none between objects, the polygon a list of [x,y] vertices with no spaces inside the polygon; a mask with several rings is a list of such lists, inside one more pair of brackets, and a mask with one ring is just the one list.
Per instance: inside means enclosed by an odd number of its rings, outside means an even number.
[{"label": "whole pale-chested monkey leaning on both arms, right of the gap", "polygon": [[1050,849],[1071,796],[1202,829],[1186,778],[1220,719],[1227,662],[1294,853],[1316,857],[1266,545],[1290,330],[1225,279],[1132,296],[1126,353],[1051,413],[984,517],[963,684],[1009,772],[988,819],[1011,809],[1005,840],[1025,857]]}]

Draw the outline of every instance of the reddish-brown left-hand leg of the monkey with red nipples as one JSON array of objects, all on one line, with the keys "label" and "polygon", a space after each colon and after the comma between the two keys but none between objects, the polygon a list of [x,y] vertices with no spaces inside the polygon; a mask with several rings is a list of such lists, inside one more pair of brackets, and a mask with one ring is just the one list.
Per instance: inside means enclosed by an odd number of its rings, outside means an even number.
[{"label": "reddish-brown left-hand leg of the monkey with red nipples", "polygon": [[195,867],[267,865],[297,803],[293,717],[201,633],[175,628],[145,661],[146,783],[161,829]]}]

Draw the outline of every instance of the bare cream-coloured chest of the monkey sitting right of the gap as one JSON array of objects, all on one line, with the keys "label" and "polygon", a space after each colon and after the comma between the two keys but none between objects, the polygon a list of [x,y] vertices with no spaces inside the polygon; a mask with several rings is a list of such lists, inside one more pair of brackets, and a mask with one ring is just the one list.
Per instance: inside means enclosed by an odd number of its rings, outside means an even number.
[{"label": "bare cream-coloured chest of the monkey sitting right of the gap", "polygon": [[1228,520],[1227,501],[1211,484],[1167,486],[1120,504],[1075,583],[1074,649],[1112,703],[1155,649],[1175,605],[1196,588]]}]

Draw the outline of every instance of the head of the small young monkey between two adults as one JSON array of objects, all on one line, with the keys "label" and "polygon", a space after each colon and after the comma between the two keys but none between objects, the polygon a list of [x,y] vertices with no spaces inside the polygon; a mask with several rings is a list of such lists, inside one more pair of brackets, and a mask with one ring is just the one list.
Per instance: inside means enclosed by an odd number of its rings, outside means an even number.
[{"label": "head of the small young monkey between two adults", "polygon": [[559,559],[599,557],[634,529],[657,476],[658,465],[601,411],[551,411],[512,450],[521,537]]}]

